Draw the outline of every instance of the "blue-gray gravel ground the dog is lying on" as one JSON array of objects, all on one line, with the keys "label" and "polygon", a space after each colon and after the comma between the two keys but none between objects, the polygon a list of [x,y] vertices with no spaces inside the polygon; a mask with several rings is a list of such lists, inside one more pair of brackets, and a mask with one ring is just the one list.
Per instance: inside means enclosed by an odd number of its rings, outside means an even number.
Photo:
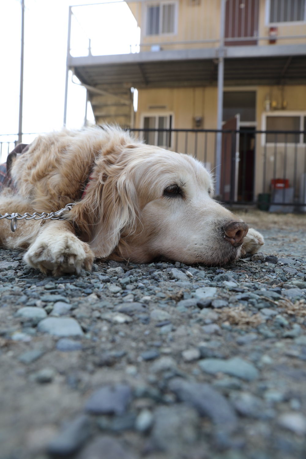
[{"label": "blue-gray gravel ground the dog is lying on", "polygon": [[264,254],[226,267],[0,250],[0,459],[305,458],[305,217],[244,218]]}]

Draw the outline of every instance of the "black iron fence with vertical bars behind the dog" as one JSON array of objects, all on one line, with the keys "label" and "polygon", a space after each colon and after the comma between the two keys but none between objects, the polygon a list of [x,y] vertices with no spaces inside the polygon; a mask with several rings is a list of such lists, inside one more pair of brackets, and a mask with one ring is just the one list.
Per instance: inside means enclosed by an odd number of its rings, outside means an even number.
[{"label": "black iron fence with vertical bars behind the dog", "polygon": [[[253,204],[270,212],[306,213],[306,131],[251,127],[131,131],[146,143],[192,155],[212,175],[217,166],[217,135],[222,135],[220,201]],[[0,163],[16,144],[17,140],[0,140]]]}]

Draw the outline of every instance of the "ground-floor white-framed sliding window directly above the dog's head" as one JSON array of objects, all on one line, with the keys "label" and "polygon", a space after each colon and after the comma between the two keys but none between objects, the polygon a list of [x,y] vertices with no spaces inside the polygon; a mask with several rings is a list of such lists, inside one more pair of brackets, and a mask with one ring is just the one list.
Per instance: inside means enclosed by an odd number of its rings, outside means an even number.
[{"label": "ground-floor white-framed sliding window directly above the dog's head", "polygon": [[[145,116],[144,129],[171,129],[172,115]],[[167,131],[144,131],[144,140],[148,145],[171,147],[171,135]]]}]

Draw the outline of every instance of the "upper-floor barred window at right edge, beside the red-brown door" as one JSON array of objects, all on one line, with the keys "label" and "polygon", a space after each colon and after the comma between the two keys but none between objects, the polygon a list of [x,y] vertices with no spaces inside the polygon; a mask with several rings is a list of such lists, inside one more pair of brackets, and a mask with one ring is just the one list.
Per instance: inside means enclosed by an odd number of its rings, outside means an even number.
[{"label": "upper-floor barred window at right edge, beside the red-brown door", "polygon": [[270,0],[270,22],[305,21],[305,0]]}]

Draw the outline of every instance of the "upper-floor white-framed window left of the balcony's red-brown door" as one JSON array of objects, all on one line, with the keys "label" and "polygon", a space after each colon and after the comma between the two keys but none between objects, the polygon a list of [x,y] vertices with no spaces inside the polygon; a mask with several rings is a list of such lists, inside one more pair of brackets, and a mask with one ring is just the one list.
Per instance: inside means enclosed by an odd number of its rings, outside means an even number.
[{"label": "upper-floor white-framed window left of the balcony's red-brown door", "polygon": [[147,35],[174,34],[175,3],[147,6]]}]

